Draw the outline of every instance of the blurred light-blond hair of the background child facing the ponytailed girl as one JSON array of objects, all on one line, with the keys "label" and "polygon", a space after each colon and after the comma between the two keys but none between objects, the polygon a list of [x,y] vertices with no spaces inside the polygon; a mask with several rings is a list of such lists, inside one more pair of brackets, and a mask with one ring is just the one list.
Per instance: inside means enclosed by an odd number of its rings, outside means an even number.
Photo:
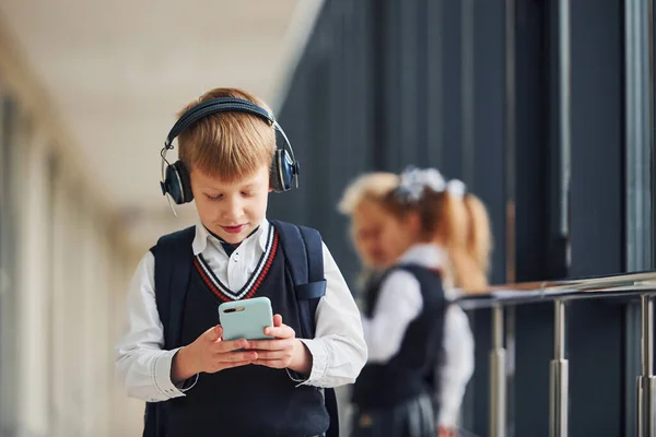
[{"label": "blurred light-blond hair of the background child facing the ponytailed girl", "polygon": [[362,202],[380,201],[398,184],[399,177],[394,173],[374,172],[359,176],[344,190],[338,210],[351,215]]}]

